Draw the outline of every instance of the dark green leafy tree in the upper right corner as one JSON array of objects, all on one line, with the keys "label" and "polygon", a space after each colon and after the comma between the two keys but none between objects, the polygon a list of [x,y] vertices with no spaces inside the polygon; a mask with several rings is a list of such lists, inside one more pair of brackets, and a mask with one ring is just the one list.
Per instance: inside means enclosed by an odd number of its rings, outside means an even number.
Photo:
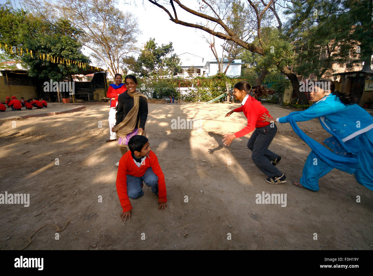
[{"label": "dark green leafy tree in the upper right corner", "polygon": [[[364,61],[370,69],[373,49],[371,0],[295,1],[284,34],[294,41],[298,74],[317,79],[335,73],[338,62],[348,69]],[[303,14],[309,16],[303,18]],[[298,24],[300,18],[302,24]]]}]

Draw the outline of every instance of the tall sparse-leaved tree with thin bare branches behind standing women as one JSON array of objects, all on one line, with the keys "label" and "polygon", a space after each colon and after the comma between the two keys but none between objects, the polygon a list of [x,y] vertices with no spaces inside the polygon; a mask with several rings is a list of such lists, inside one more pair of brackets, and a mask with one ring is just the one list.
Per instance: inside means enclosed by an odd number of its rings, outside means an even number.
[{"label": "tall sparse-leaved tree with thin bare branches behind standing women", "polygon": [[137,50],[140,33],[137,18],[128,10],[122,12],[117,0],[45,0],[28,1],[32,12],[52,24],[58,18],[68,18],[72,25],[83,30],[75,38],[90,50],[99,66],[108,68],[114,78],[124,70],[123,59]]}]

